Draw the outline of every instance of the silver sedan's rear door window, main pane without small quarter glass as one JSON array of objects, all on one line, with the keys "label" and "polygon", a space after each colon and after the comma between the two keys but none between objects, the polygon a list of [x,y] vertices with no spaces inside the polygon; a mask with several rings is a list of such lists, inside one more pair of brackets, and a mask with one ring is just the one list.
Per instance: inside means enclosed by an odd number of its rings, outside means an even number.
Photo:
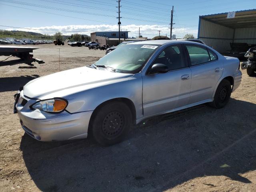
[{"label": "silver sedan's rear door window, main pane without small quarter glass", "polygon": [[204,47],[195,46],[195,45],[186,45],[186,48],[188,50],[188,54],[189,54],[192,66],[203,64],[211,60],[207,49]]}]

